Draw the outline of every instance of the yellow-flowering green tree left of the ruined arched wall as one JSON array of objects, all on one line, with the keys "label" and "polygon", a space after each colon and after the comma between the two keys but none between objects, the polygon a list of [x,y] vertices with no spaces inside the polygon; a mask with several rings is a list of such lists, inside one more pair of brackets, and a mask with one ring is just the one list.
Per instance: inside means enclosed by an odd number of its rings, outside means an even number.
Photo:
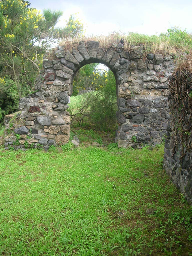
[{"label": "yellow-flowering green tree left of the ruined arched wall", "polygon": [[[42,67],[42,57],[50,43],[61,38],[64,35],[61,31],[66,30],[55,28],[61,11],[48,9],[40,14],[29,6],[30,3],[23,0],[0,1],[0,108],[3,115],[10,113],[10,106],[16,102],[18,107],[19,98],[33,90],[34,80]],[[78,20],[74,22],[78,23]],[[68,24],[72,26],[73,19],[70,18]],[[72,35],[79,32],[76,29]],[[7,106],[9,101],[2,95],[9,99],[9,92],[13,88],[15,92],[15,87],[19,97],[15,97],[16,102],[10,100],[13,104]],[[12,110],[15,111],[15,107]]]}]

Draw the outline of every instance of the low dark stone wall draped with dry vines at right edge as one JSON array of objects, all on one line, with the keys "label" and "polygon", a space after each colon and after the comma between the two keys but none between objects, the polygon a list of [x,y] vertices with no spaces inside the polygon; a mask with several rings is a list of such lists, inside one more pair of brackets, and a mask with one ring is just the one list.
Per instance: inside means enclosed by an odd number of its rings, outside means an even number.
[{"label": "low dark stone wall draped with dry vines at right edge", "polygon": [[173,120],[167,127],[164,169],[192,204],[192,80],[190,71],[176,70],[168,97]]}]

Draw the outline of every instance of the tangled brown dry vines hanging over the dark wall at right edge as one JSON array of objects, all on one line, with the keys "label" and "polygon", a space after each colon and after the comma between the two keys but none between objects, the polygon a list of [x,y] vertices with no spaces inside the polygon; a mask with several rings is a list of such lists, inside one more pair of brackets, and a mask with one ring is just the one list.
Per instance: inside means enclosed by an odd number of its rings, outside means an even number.
[{"label": "tangled brown dry vines hanging over the dark wall at right edge", "polygon": [[182,156],[185,156],[185,148],[192,151],[192,54],[178,63],[169,86],[172,138],[175,146],[178,143],[181,145]]}]

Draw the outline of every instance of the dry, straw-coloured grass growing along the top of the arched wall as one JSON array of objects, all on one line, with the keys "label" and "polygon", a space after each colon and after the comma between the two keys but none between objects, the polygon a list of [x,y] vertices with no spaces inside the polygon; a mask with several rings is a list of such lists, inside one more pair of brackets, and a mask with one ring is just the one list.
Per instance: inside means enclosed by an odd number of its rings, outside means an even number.
[{"label": "dry, straw-coloured grass growing along the top of the arched wall", "polygon": [[[179,35],[178,35],[179,36]],[[72,48],[77,48],[80,41],[84,41],[87,44],[88,41],[99,41],[100,47],[103,49],[107,49],[109,47],[116,47],[116,45],[120,42],[121,39],[124,41],[124,49],[130,50],[132,46],[143,45],[146,53],[161,53],[163,55],[172,54],[176,55],[179,53],[189,52],[192,46],[192,37],[187,34],[189,37],[189,41],[187,44],[183,43],[178,46],[177,38],[170,41],[170,38],[166,36],[148,36],[144,34],[138,33],[129,33],[128,35],[113,33],[108,36],[81,36],[78,38],[69,39],[66,38],[60,42],[60,46],[64,46],[64,50],[72,50]],[[183,39],[186,40],[186,39]]]}]

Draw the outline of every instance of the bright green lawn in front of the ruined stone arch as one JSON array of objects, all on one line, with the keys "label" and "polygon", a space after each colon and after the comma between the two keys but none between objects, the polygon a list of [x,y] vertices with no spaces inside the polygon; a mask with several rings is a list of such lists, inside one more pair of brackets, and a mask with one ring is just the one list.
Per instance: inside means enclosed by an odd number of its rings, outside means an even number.
[{"label": "bright green lawn in front of the ruined stone arch", "polygon": [[163,146],[1,149],[0,254],[192,255],[192,209],[162,159]]}]

